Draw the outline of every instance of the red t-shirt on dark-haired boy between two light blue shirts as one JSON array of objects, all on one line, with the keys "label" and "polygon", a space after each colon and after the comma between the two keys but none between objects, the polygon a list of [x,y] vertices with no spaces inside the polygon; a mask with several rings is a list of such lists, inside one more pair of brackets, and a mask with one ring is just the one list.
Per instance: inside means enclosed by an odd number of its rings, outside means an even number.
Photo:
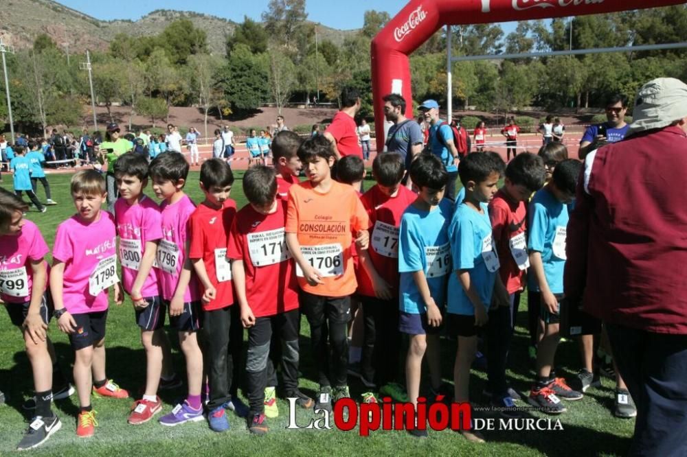
[{"label": "red t-shirt on dark-haired boy between two light blue shirts", "polygon": [[[508,294],[515,294],[524,287],[522,279],[525,270],[520,269],[515,257],[521,259],[521,266],[526,265],[527,206],[525,202],[513,202],[506,196],[503,189],[499,189],[489,203],[489,218],[491,219],[496,251],[501,263],[499,268],[501,280],[504,282]],[[511,245],[513,245],[513,249],[511,249]]]}]

